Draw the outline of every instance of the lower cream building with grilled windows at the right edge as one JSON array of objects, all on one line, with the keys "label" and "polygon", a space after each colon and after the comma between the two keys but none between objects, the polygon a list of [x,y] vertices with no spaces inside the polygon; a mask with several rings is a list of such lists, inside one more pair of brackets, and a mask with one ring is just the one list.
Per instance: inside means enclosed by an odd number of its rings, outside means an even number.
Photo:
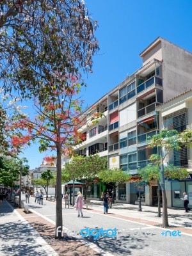
[{"label": "lower cream building with grilled windows at the right edge", "polygon": [[[159,112],[159,128],[175,129],[182,132],[192,129],[192,86],[191,90],[164,102],[157,107]],[[183,147],[180,150],[172,150],[165,159],[166,164],[173,164],[186,168],[189,177],[185,180],[166,180],[166,195],[168,207],[182,207],[180,200],[182,194],[189,195],[189,205],[192,207],[192,148]]]}]

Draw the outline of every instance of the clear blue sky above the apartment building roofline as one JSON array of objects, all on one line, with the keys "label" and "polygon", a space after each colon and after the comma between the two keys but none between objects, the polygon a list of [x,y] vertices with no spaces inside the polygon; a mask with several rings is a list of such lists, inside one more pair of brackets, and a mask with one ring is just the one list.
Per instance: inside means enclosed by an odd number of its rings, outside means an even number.
[{"label": "clear blue sky above the apartment building roofline", "polygon": [[[141,67],[139,54],[158,36],[192,52],[191,0],[84,0],[93,20],[100,51],[93,73],[84,75],[83,99],[90,106]],[[24,151],[30,168],[45,154],[38,145]]]}]

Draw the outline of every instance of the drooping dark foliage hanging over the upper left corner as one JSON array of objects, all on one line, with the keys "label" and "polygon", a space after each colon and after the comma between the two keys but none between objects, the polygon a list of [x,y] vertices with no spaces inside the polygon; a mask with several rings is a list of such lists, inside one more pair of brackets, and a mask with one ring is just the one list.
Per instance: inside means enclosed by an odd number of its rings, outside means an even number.
[{"label": "drooping dark foliage hanging over the upper left corner", "polygon": [[97,22],[84,1],[6,0],[0,7],[1,81],[7,92],[44,102],[54,97],[54,88],[65,88],[65,79],[56,83],[56,72],[92,72]]}]

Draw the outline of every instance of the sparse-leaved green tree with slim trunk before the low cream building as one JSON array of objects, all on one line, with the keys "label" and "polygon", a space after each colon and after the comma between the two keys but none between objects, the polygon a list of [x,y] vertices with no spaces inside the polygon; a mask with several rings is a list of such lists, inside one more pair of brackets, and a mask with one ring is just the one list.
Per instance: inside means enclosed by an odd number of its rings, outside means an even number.
[{"label": "sparse-leaved green tree with slim trunk before the low cream building", "polygon": [[172,152],[172,150],[179,150],[183,146],[190,147],[192,132],[184,131],[178,134],[176,130],[161,130],[159,134],[152,136],[148,140],[150,147],[157,147],[160,156],[160,173],[161,173],[161,189],[162,189],[162,201],[163,201],[163,227],[168,227],[168,212],[167,212],[167,199],[164,184],[164,159]]}]

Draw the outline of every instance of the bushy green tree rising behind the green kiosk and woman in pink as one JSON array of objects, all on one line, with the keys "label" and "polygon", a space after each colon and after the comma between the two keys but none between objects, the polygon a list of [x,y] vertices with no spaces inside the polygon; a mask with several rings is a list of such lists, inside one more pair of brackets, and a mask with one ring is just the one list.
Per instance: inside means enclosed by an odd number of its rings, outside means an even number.
[{"label": "bushy green tree rising behind the green kiosk and woman in pink", "polygon": [[100,157],[95,154],[86,157],[72,157],[72,161],[65,164],[65,170],[71,173],[71,177],[81,180],[83,183],[85,199],[89,184],[93,183],[98,178],[99,173],[106,169],[106,163],[106,157]]}]

